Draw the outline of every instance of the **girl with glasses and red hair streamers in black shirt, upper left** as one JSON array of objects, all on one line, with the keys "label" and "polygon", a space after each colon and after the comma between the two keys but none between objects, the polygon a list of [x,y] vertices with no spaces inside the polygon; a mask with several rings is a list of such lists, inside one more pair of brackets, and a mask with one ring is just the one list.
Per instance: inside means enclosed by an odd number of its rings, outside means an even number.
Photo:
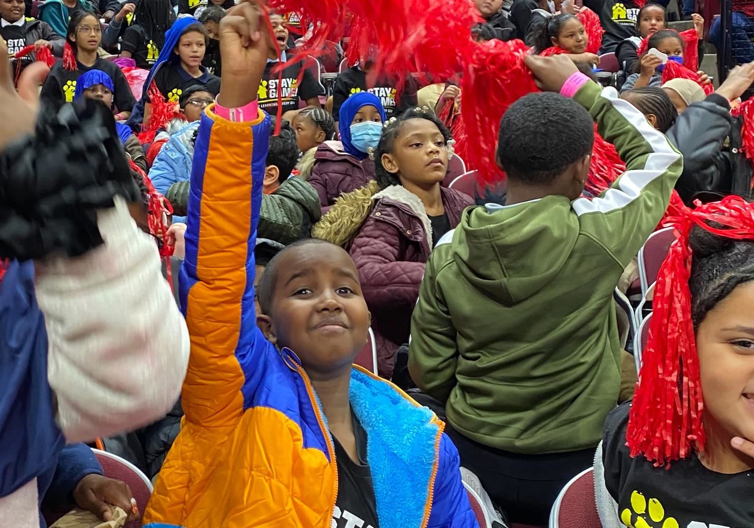
[{"label": "girl with glasses and red hair streamers in black shirt, upper left", "polygon": [[135,101],[125,75],[115,63],[100,59],[97,48],[102,41],[100,20],[87,11],[77,11],[71,17],[66,35],[63,60],[57,60],[42,85],[41,99],[52,103],[72,102],[78,77],[90,69],[101,69],[115,84],[115,107],[118,119],[127,119]]}]

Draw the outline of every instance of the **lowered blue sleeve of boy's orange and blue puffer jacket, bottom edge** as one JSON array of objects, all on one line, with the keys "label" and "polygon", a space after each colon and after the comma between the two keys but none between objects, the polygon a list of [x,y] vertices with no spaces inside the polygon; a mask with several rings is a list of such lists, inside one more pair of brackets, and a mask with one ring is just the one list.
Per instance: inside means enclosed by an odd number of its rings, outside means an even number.
[{"label": "lowered blue sleeve of boy's orange and blue puffer jacket, bottom edge", "polygon": [[461,479],[461,457],[447,434],[440,438],[440,461],[428,526],[478,528],[477,516]]}]

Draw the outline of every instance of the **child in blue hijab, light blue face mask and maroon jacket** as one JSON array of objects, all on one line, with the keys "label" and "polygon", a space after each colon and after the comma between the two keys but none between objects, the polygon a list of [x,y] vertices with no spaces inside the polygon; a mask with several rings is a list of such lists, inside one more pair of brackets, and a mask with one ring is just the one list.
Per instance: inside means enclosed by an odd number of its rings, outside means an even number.
[{"label": "child in blue hijab, light blue face mask and maroon jacket", "polygon": [[385,109],[369,92],[348,97],[340,107],[340,141],[322,143],[314,154],[309,183],[320,196],[325,212],[342,193],[351,192],[375,179],[375,164],[369,151],[377,148],[385,122]]}]

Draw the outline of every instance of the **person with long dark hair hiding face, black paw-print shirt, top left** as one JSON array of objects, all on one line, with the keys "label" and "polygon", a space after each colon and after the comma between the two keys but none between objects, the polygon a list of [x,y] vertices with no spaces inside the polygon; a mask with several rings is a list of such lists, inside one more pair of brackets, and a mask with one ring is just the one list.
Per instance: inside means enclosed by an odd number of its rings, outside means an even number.
[{"label": "person with long dark hair hiding face, black paw-print shirt, top left", "polygon": [[121,57],[133,57],[139,68],[152,68],[173,20],[175,15],[170,0],[138,0],[133,23],[123,34]]}]

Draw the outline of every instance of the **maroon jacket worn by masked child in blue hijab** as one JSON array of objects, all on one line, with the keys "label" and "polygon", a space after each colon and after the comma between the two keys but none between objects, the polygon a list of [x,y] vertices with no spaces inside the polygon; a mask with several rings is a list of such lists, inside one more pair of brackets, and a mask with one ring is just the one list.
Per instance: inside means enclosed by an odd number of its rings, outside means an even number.
[{"label": "maroon jacket worn by masked child in blue hijab", "polygon": [[363,187],[374,179],[374,161],[369,158],[359,161],[344,152],[343,144],[339,141],[326,141],[314,154],[314,166],[311,167],[308,182],[317,189],[324,213],[341,193]]}]

